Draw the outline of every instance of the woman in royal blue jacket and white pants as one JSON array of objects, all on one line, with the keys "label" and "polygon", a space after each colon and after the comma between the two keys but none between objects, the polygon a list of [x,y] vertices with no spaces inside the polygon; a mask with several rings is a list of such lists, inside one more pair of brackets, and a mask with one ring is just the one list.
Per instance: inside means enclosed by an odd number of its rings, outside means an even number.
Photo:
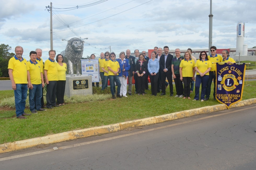
[{"label": "woman in royal blue jacket and white pants", "polygon": [[120,89],[120,96],[124,96],[124,97],[127,97],[126,96],[126,93],[127,93],[127,76],[128,76],[128,71],[127,70],[130,70],[130,63],[129,63],[129,60],[127,60],[125,58],[125,52],[122,51],[120,54],[119,54],[119,57],[117,59],[117,62],[119,63],[119,66],[120,66],[120,73],[118,73],[118,78],[121,82],[121,89]]}]

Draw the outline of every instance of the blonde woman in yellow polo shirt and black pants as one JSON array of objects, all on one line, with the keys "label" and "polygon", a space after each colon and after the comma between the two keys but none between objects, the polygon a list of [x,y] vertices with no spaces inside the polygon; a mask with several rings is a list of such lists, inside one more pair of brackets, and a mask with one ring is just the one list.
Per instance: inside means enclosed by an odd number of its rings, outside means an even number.
[{"label": "blonde woman in yellow polo shirt and black pants", "polygon": [[191,78],[195,80],[195,61],[192,59],[190,51],[185,53],[185,58],[179,64],[180,79],[183,81],[183,99],[190,98],[190,82]]}]

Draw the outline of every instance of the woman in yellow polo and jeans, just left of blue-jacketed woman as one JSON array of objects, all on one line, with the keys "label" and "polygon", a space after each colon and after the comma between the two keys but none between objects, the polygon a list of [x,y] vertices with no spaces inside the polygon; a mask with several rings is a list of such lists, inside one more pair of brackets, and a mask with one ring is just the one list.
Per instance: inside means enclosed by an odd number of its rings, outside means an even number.
[{"label": "woman in yellow polo and jeans, just left of blue-jacketed woman", "polygon": [[115,98],[115,82],[117,83],[117,97],[121,98],[120,89],[121,82],[118,78],[118,73],[120,73],[120,66],[118,61],[115,60],[115,53],[110,53],[110,60],[108,61],[108,78],[110,83],[110,91],[112,94],[112,99]]}]

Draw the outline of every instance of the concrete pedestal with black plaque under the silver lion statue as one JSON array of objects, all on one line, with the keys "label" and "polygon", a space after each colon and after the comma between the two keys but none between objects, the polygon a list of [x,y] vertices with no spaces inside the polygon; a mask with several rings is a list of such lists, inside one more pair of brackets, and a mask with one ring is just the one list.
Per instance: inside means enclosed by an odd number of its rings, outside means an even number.
[{"label": "concrete pedestal with black plaque under the silver lion statue", "polygon": [[65,95],[92,95],[91,76],[66,76]]}]

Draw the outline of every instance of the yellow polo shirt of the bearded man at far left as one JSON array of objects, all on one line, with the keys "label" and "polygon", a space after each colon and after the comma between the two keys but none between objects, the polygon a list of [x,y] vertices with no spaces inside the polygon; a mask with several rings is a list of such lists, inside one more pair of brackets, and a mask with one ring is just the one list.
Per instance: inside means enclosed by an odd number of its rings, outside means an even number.
[{"label": "yellow polo shirt of the bearded man at far left", "polygon": [[8,62],[8,69],[13,70],[13,79],[15,84],[27,84],[27,60],[22,58],[21,60],[16,57],[12,57]]}]

